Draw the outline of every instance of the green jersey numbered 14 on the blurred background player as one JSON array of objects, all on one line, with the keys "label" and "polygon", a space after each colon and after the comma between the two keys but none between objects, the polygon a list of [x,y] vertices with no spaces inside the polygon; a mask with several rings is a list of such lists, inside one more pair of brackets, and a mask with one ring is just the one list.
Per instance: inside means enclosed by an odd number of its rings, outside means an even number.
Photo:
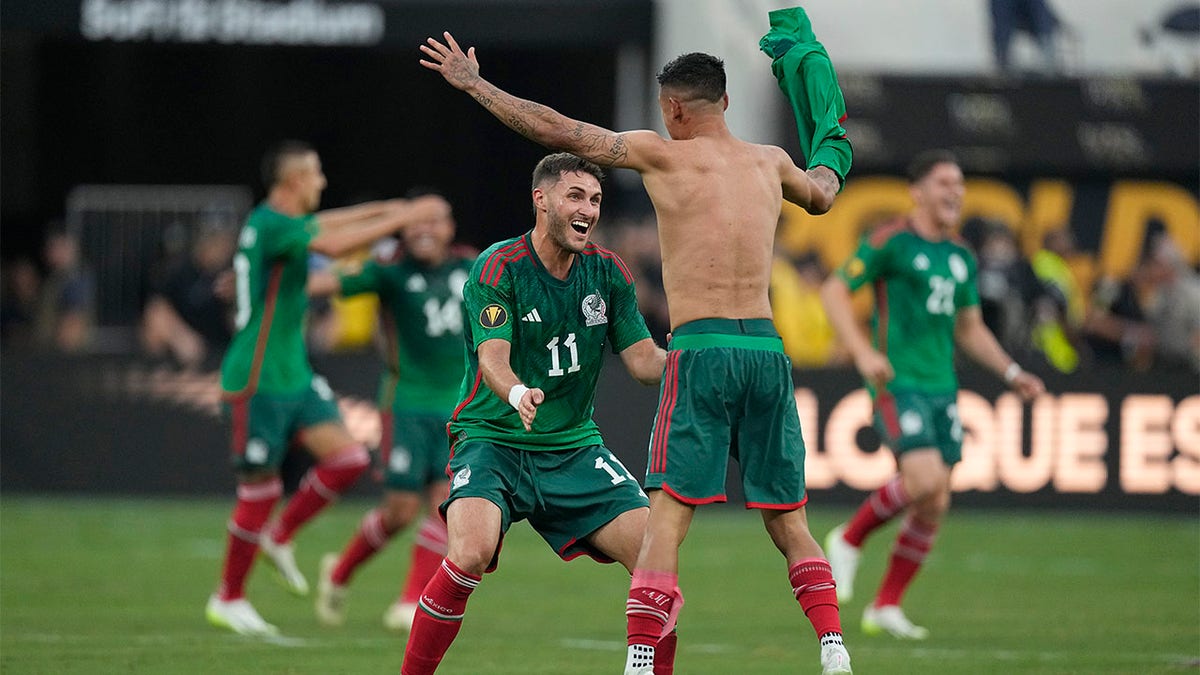
[{"label": "green jersey numbered 14 on the blurred background player", "polygon": [[379,408],[449,416],[466,369],[462,354],[462,288],[474,262],[458,253],[437,267],[414,259],[370,261],[342,275],[342,294],[376,293],[386,336],[388,372]]}]

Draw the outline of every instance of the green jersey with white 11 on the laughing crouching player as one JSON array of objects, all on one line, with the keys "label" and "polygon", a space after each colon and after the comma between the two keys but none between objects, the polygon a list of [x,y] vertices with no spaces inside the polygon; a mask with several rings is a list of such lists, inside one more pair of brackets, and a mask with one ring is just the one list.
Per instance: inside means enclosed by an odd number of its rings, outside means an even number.
[{"label": "green jersey with white 11 on the laughing crouching player", "polygon": [[[650,336],[625,263],[588,244],[559,280],[546,271],[527,233],[480,253],[463,301],[468,363],[450,422],[456,442],[486,440],[524,450],[601,444],[592,406],[605,346],[620,352]],[[475,350],[494,339],[512,345],[510,364],[521,382],[546,393],[533,431],[484,383]]]}]

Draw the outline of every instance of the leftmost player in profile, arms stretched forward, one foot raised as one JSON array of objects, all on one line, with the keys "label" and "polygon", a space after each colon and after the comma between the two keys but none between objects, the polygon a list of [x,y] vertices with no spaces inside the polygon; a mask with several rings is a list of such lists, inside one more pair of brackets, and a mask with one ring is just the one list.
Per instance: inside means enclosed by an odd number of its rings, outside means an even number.
[{"label": "leftmost player in profile, arms stretched forward, one foot raised", "polygon": [[[242,226],[233,258],[236,333],[221,365],[224,411],[232,422],[238,502],[229,519],[221,585],[209,598],[210,623],[248,635],[274,635],[245,597],[245,583],[262,548],[284,586],[306,595],[292,537],[366,470],[366,448],[342,425],[334,393],[314,375],[305,350],[308,253],[344,255],[420,217],[398,201],[372,202],[314,214],[325,189],[320,157],[308,144],[287,141],[263,159],[266,199]],[[292,441],[316,465],[272,527],[283,495],[280,466]]]}]

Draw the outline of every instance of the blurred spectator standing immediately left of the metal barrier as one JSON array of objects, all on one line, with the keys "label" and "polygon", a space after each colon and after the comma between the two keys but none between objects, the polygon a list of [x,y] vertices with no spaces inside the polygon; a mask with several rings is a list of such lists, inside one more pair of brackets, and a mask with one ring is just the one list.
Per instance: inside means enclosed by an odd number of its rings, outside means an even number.
[{"label": "blurred spectator standing immediately left of the metal barrier", "polygon": [[46,279],[34,313],[34,340],[44,348],[80,352],[96,323],[96,280],[79,256],[78,235],[52,223],[43,247]]}]

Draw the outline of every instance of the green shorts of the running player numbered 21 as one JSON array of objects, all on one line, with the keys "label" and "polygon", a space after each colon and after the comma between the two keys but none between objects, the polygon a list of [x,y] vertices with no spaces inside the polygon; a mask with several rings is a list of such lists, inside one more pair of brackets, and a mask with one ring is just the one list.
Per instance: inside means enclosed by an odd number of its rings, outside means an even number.
[{"label": "green shorts of the running player numbered 21", "polygon": [[942,461],[962,460],[962,420],[958,393],[881,392],[875,399],[875,429],[892,452],[937,448]]}]

